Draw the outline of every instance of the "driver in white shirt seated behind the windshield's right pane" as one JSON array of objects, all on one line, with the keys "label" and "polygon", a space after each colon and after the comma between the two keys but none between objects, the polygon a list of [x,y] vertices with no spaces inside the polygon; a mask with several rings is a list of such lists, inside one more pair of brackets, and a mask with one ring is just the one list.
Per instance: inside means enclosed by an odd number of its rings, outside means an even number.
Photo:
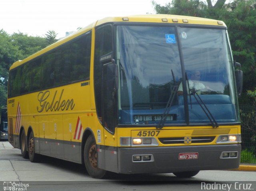
[{"label": "driver in white shirt seated behind the windshield's right pane", "polygon": [[[188,84],[189,84],[189,89],[191,89],[192,91],[195,91],[199,95],[201,94],[202,91],[211,90],[208,86],[205,86],[203,83],[201,83],[200,79],[201,79],[200,71],[196,70],[191,73],[190,79],[188,79],[188,82],[186,81],[188,93],[190,93],[190,91],[188,90]],[[180,83],[180,86],[178,88],[178,95],[183,95],[182,83]]]}]

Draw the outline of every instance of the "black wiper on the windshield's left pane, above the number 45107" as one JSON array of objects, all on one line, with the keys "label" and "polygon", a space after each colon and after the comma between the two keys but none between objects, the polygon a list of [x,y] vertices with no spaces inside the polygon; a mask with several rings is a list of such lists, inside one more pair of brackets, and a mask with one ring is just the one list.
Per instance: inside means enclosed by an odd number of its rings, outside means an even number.
[{"label": "black wiper on the windshield's left pane, above the number 45107", "polygon": [[173,82],[174,82],[174,88],[172,89],[172,93],[171,93],[171,95],[169,97],[169,100],[166,104],[166,108],[164,109],[164,113],[162,114],[161,120],[160,120],[159,124],[156,126],[157,129],[162,129],[164,127],[166,117],[168,116],[168,114],[170,112],[170,109],[171,109],[171,106],[172,106],[172,102],[175,98],[175,95],[177,95],[178,85],[176,85],[176,81],[175,81],[175,78],[174,78],[173,71],[172,71],[172,78],[173,78]]}]

